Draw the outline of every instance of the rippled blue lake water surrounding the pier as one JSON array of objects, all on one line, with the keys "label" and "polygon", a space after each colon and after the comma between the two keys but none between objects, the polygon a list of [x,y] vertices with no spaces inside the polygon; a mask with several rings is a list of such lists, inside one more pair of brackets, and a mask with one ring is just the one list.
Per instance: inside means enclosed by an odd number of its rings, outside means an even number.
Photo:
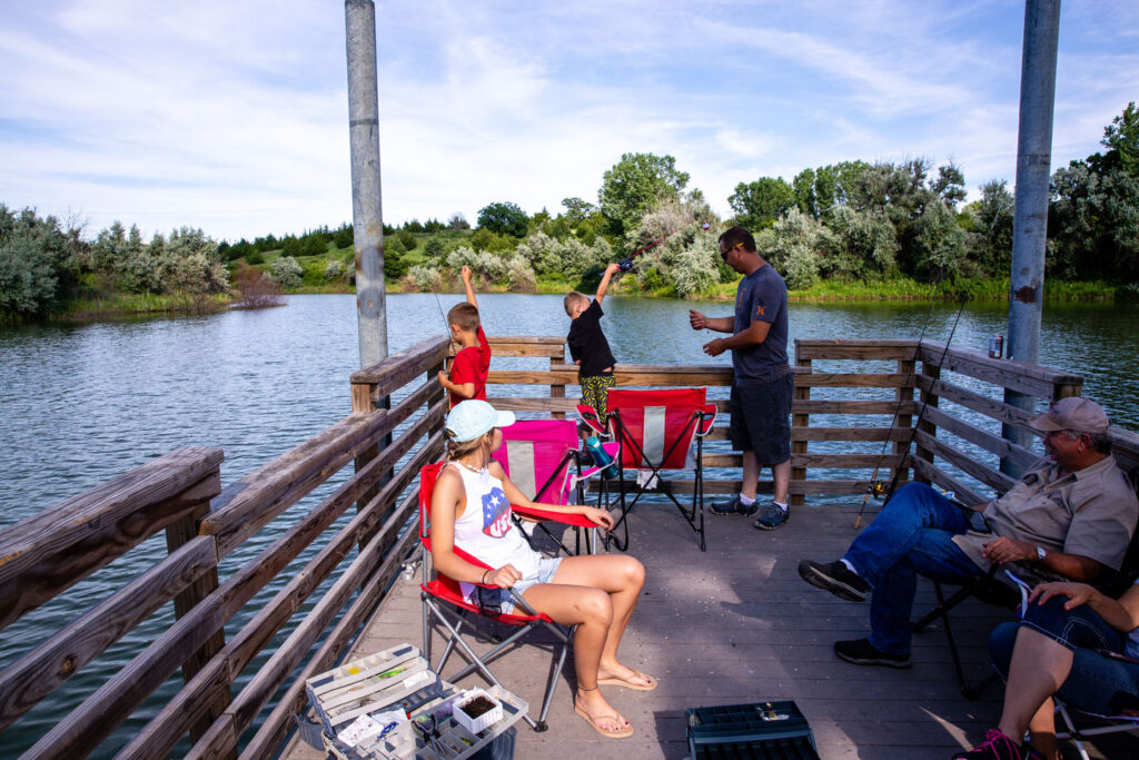
[{"label": "rippled blue lake water surrounding the pier", "polygon": [[[453,294],[388,296],[390,351],[442,334],[443,312],[457,300]],[[564,335],[568,327],[560,296],[490,294],[480,296],[480,307],[491,335]],[[710,316],[731,312],[723,302],[606,299],[603,325],[617,360],[729,363],[728,357],[710,359],[700,352],[714,334],[689,328],[689,308]],[[927,311],[921,303],[792,304],[790,338],[913,338]],[[944,341],[956,316],[954,305],[935,307],[926,336]],[[969,307],[952,345],[984,351],[989,336],[1007,332],[1003,304]],[[501,359],[495,366],[525,361]],[[1139,307],[1048,305],[1041,363],[1081,373],[1084,395],[1103,402],[1117,424],[1139,431]],[[351,295],[293,296],[279,309],[207,317],[0,327],[0,528],[182,446],[223,448],[222,482],[228,484],[344,417],[349,375],[358,365]],[[844,371],[854,370],[845,365]],[[329,488],[282,520],[311,508]],[[271,529],[262,533],[227,559],[223,579],[272,540]],[[99,575],[133,575],[164,553],[164,539],[156,537]],[[8,627],[0,637],[0,668],[101,599],[105,582],[97,575],[79,583]],[[0,735],[3,754],[30,746],[92,684],[114,673],[167,626],[171,614],[156,614]],[[247,615],[235,621],[227,636],[245,620]],[[96,757],[113,754],[179,683],[177,676],[171,679]]]}]

